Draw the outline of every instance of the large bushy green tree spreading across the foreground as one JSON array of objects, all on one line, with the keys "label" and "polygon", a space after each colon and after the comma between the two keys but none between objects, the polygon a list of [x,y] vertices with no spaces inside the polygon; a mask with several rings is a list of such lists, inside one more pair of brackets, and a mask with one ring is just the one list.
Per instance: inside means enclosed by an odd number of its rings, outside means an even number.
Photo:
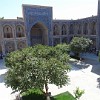
[{"label": "large bushy green tree spreading across the foreground", "polygon": [[57,47],[36,45],[8,54],[6,85],[24,92],[38,88],[48,94],[48,84],[64,86],[69,83],[69,56]]}]

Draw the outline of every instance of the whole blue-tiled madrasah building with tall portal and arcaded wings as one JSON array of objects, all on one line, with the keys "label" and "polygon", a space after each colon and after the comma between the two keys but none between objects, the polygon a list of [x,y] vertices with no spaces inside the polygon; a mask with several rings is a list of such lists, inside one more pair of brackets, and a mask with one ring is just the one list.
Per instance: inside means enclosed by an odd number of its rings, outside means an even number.
[{"label": "whole blue-tiled madrasah building with tall portal and arcaded wings", "polygon": [[52,7],[22,5],[23,18],[0,19],[0,52],[9,52],[36,44],[54,46],[70,43],[74,36],[93,41],[100,50],[100,0],[97,16],[78,20],[53,20]]}]

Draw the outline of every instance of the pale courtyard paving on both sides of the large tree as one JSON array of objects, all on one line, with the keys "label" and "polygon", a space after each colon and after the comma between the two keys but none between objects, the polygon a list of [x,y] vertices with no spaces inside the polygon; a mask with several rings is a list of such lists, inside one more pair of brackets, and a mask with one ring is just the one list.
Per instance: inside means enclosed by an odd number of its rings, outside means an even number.
[{"label": "pale courtyard paving on both sides of the large tree", "polygon": [[[70,84],[62,88],[55,85],[49,85],[51,95],[61,92],[73,91],[76,87],[85,90],[85,94],[80,100],[100,100],[100,63],[96,60],[86,59],[83,62],[71,61],[72,71],[68,73]],[[4,85],[4,74],[7,69],[3,60],[0,60],[0,100],[14,100],[15,94],[11,94],[11,88]]]}]

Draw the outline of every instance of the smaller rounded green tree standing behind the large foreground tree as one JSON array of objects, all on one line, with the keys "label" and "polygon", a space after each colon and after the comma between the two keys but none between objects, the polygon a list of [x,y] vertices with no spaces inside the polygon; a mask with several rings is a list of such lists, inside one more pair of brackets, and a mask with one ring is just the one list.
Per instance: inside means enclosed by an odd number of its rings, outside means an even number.
[{"label": "smaller rounded green tree standing behind the large foreground tree", "polygon": [[85,52],[91,44],[92,40],[88,38],[74,37],[70,43],[70,50],[79,56],[79,54]]}]

